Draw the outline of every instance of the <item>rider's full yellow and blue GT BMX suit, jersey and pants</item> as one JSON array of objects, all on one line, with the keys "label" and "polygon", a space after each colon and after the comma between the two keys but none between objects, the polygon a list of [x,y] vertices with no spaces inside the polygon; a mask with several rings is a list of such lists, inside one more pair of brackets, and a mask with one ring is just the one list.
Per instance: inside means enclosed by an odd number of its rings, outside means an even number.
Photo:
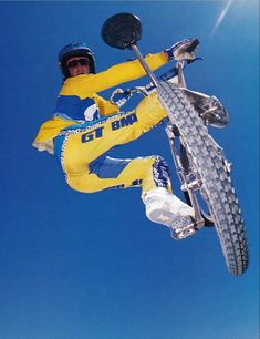
[{"label": "rider's full yellow and blue GT BMX suit, jersey and pants", "polygon": [[[146,61],[156,70],[168,59],[159,52],[148,54]],[[97,94],[143,75],[138,60],[133,60],[97,74],[69,78],[63,83],[54,115],[42,124],[33,146],[55,154],[73,189],[92,193],[141,186],[145,194],[162,186],[170,191],[168,167],[160,156],[134,160],[108,156],[113,147],[138,138],[167,117],[156,93],[145,97],[134,111],[124,113]]]}]

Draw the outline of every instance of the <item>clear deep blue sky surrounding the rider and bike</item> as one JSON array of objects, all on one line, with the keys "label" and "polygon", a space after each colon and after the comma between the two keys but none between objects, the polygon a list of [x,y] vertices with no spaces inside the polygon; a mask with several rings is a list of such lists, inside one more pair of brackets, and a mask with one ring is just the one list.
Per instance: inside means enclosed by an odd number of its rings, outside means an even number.
[{"label": "clear deep blue sky surrounding the rider and bike", "polygon": [[[227,3],[0,2],[1,339],[259,338],[259,11],[258,1],[233,1],[215,30]],[[230,113],[215,135],[233,163],[248,229],[250,266],[240,278],[228,274],[214,229],[176,243],[146,219],[139,189],[73,192],[54,158],[31,146],[52,115],[64,44],[86,41],[98,71],[132,56],[100,34],[123,11],[142,19],[144,54],[201,41],[205,60],[187,81]],[[115,156],[150,154],[173,164],[163,127]]]}]

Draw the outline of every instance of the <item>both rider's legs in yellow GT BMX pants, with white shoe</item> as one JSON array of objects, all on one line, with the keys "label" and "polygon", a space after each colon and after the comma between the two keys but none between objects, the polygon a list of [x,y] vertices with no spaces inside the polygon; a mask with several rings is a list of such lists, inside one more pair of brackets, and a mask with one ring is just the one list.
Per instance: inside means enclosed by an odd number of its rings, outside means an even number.
[{"label": "both rider's legs in yellow GT BMX pants, with white shoe", "polygon": [[[76,191],[91,193],[114,186],[129,187],[142,182],[142,197],[148,218],[174,226],[174,219],[179,222],[185,209],[180,208],[177,198],[167,193],[170,192],[170,183],[162,158],[115,161],[111,166],[111,161],[107,162],[104,156],[112,147],[139,137],[166,117],[167,114],[154,93],[143,100],[135,112],[115,114],[92,125],[66,129],[67,133],[55,140],[55,154],[60,158],[67,184]],[[165,184],[162,184],[164,181]],[[181,214],[179,209],[183,209]],[[163,219],[162,213],[165,213]],[[186,215],[193,215],[189,208],[186,209]]]}]

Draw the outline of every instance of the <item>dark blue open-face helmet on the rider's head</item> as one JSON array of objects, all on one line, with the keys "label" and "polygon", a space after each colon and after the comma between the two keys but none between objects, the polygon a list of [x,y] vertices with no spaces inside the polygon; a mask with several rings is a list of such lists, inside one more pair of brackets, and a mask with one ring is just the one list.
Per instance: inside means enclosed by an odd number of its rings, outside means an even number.
[{"label": "dark blue open-face helmet on the rider's head", "polygon": [[73,56],[87,56],[90,59],[90,71],[95,73],[95,58],[91,49],[84,43],[70,43],[65,45],[59,53],[59,65],[64,79],[70,76],[66,62]]}]

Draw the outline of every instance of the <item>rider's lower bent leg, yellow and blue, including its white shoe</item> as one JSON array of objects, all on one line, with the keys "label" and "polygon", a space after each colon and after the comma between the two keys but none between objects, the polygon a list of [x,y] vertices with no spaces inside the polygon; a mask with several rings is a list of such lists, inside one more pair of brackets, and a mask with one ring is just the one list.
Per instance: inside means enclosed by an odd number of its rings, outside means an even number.
[{"label": "rider's lower bent leg, yellow and blue, including its white shoe", "polygon": [[69,174],[69,185],[83,193],[139,186],[148,219],[176,230],[193,224],[194,209],[173,195],[168,166],[160,156],[131,161],[105,157],[90,164],[90,168],[79,175]]}]

